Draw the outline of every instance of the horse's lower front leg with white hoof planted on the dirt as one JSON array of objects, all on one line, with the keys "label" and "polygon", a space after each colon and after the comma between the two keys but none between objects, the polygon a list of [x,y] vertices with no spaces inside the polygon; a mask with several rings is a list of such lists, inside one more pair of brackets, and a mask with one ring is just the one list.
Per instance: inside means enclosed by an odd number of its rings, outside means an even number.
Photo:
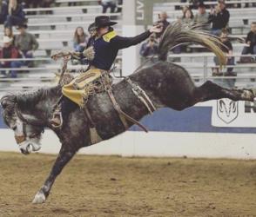
[{"label": "horse's lower front leg with white hoof planted on the dirt", "polygon": [[32,201],[32,203],[44,203],[46,201],[46,198],[50,194],[51,187],[55,179],[57,178],[57,175],[61,173],[64,166],[71,160],[71,158],[76,153],[77,153],[77,149],[71,150],[71,149],[64,148],[64,146],[61,148],[59,155],[57,156],[57,160],[55,161],[51,169],[51,174],[46,179],[41,189],[35,195],[35,198]]}]

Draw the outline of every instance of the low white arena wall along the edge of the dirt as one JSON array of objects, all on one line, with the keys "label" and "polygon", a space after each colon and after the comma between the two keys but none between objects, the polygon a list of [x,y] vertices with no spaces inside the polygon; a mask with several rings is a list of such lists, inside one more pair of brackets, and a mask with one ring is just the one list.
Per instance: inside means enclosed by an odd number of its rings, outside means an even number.
[{"label": "low white arena wall along the edge of the dirt", "polygon": [[[0,151],[18,152],[9,129],[1,129]],[[126,132],[123,135],[82,148],[80,154],[156,157],[199,157],[256,159],[256,135],[215,133]],[[57,154],[60,143],[50,130],[44,133],[40,153]]]}]

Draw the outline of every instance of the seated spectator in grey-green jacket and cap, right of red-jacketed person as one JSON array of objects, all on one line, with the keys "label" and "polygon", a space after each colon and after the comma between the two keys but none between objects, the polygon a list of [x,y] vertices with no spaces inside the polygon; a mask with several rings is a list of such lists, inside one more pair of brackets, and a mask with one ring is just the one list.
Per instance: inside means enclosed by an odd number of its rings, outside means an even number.
[{"label": "seated spectator in grey-green jacket and cap, right of red-jacketed person", "polygon": [[34,51],[38,49],[38,43],[36,36],[26,31],[27,27],[26,24],[17,26],[20,34],[15,38],[15,46],[22,51],[24,58],[32,58]]}]

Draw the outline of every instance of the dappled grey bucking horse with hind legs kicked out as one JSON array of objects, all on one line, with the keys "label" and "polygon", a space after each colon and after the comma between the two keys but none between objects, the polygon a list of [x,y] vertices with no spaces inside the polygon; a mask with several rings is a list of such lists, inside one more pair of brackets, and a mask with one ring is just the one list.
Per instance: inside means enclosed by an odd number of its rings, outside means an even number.
[{"label": "dappled grey bucking horse with hind legs kicked out", "polygon": [[[209,81],[196,87],[184,68],[166,62],[168,50],[174,45],[186,42],[200,43],[213,50],[222,62],[225,61],[225,56],[216,46],[216,43],[219,43],[216,38],[177,23],[169,26],[159,44],[158,62],[129,76],[133,83],[145,91],[156,109],[167,107],[182,110],[197,102],[220,98],[253,101],[253,90],[249,89],[224,89]],[[111,89],[120,107],[132,118],[140,120],[149,114],[145,104],[132,92],[131,84],[127,80],[112,85]],[[30,93],[3,96],[1,100],[3,119],[13,129],[23,154],[39,150],[41,135],[44,128],[51,128],[53,107],[60,95],[61,87],[57,86]],[[98,135],[103,140],[125,132],[125,127],[106,92],[91,95],[86,107],[95,123]],[[131,122],[128,124],[132,125]],[[90,124],[87,115],[84,115],[84,109],[77,107],[66,117],[61,129],[51,129],[59,137],[62,147],[49,177],[37,192],[34,203],[46,201],[57,175],[64,166],[79,148],[91,145]]]}]

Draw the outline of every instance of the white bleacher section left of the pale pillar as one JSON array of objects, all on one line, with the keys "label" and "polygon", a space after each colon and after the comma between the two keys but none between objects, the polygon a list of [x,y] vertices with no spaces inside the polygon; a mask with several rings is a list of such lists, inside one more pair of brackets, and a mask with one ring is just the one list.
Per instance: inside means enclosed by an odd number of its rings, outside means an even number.
[{"label": "white bleacher section left of the pale pillar", "polygon": [[[69,3],[78,3],[79,6],[68,6]],[[118,7],[121,7],[119,5]],[[93,0],[57,0],[56,6],[51,8],[24,9],[28,19],[28,32],[37,37],[39,49],[36,50],[33,59],[33,68],[22,67],[17,78],[0,78],[0,91],[18,91],[42,86],[52,86],[56,84],[56,73],[60,71],[61,62],[53,62],[51,54],[59,50],[72,50],[72,39],[77,26],[82,26],[84,30],[94,17],[102,15],[102,7],[98,1]],[[51,14],[44,14],[51,11]],[[31,15],[35,12],[36,15]],[[120,13],[106,13],[111,19],[117,20],[116,30],[121,34],[122,16]],[[0,26],[0,37],[3,37],[3,25]],[[14,30],[17,34],[17,30]],[[0,44],[2,46],[2,44]],[[118,56],[118,61],[119,61]],[[18,61],[20,59],[4,59],[4,61]],[[86,66],[72,65],[69,63],[70,71],[86,69]],[[7,69],[8,70],[8,69]],[[2,94],[1,94],[2,95]]]}]

